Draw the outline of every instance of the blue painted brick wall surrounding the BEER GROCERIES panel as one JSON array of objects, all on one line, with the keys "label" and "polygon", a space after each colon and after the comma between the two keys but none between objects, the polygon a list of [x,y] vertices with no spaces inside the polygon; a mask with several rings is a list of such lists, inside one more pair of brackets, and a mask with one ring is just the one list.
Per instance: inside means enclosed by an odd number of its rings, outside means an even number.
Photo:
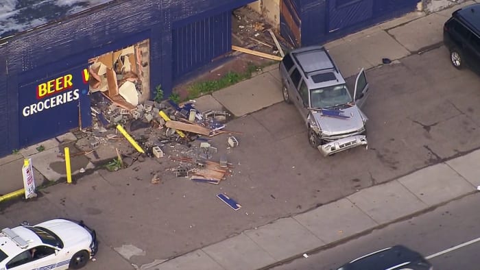
[{"label": "blue painted brick wall surrounding the BEER GROCERIES panel", "polygon": [[[149,38],[150,85],[161,84],[168,96],[173,87],[172,25],[200,21],[252,1],[119,0],[9,38],[0,45],[0,156],[45,139],[20,141],[19,99],[32,95],[19,92],[20,86],[43,82],[86,65],[89,58]],[[32,121],[32,130],[41,129],[44,121]],[[51,136],[67,132],[60,130]]]}]

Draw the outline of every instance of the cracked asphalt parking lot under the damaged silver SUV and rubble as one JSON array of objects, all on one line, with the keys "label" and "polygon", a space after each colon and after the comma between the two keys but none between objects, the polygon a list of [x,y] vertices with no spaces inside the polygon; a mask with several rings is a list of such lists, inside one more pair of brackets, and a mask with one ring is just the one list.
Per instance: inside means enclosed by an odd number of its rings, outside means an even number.
[{"label": "cracked asphalt parking lot under the damaged silver SUV and rubble", "polygon": [[[239,147],[226,149],[226,136],[213,138],[235,167],[218,186],[175,177],[165,169],[178,164],[147,159],[115,173],[84,175],[74,187],[46,188],[37,199],[3,209],[0,226],[83,219],[101,240],[92,269],[110,262],[118,264],[115,269],[132,269],[131,264],[185,254],[480,147],[480,78],[454,69],[444,47],[369,70],[367,77],[368,150],[323,158],[309,146],[296,108],[278,103],[228,123],[228,130],[243,132]],[[180,154],[168,151],[167,156]],[[150,183],[154,173],[160,173],[161,184]],[[241,210],[228,208],[218,193],[235,199]]]}]

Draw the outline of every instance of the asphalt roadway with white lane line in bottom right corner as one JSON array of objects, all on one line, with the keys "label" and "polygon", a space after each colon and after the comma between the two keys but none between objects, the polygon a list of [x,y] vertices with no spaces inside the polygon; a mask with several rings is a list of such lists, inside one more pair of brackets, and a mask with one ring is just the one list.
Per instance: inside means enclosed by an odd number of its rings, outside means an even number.
[{"label": "asphalt roadway with white lane line in bottom right corner", "polygon": [[[337,269],[350,260],[397,244],[428,256],[435,270],[477,270],[480,249],[479,204],[480,194],[475,193],[330,249],[307,254],[307,258],[274,267],[274,270]],[[472,240],[477,242],[461,246]],[[454,249],[450,250],[452,247]],[[446,253],[438,254],[441,251]]]}]

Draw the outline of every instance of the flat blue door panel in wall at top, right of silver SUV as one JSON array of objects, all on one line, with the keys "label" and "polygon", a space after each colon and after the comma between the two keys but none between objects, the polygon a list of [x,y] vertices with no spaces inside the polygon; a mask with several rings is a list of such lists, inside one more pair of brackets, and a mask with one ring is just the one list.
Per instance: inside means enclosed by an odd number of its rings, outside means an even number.
[{"label": "flat blue door panel in wall at top, right of silver SUV", "polygon": [[374,0],[328,0],[328,33],[368,21],[374,16]]}]

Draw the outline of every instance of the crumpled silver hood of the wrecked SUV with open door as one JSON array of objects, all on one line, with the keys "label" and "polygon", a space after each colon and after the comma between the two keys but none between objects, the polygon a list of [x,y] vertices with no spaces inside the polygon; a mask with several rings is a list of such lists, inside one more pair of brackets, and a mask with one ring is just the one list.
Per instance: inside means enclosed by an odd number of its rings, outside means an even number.
[{"label": "crumpled silver hood of the wrecked SUV with open door", "polygon": [[[312,111],[312,115],[318,127],[328,136],[355,132],[363,127],[362,113],[357,106],[342,109],[341,116],[348,116],[342,119],[333,116],[322,115],[320,111]],[[366,119],[365,119],[366,120]]]}]

